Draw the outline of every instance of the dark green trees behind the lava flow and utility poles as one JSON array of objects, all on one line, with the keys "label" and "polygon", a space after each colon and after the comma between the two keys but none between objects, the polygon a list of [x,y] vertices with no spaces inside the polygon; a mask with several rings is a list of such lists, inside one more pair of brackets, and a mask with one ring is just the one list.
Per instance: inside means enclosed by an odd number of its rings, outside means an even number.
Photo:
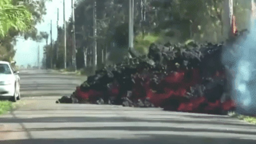
[{"label": "dark green trees behind the lava flow and utility poles", "polygon": [[[93,37],[94,1],[97,3],[97,37]],[[109,63],[121,62],[127,56],[128,2],[127,0],[77,1],[75,31],[79,33],[76,34],[78,69],[84,67],[83,48],[92,50],[95,38],[99,65],[102,62],[102,50],[107,50],[106,57]],[[134,0],[134,4],[134,46],[141,54],[148,52],[151,43],[170,42],[190,45],[193,41],[219,43],[227,38],[224,34],[224,29],[228,26],[224,25],[223,0]],[[250,1],[234,0],[234,15],[237,17],[238,30],[249,26],[248,10],[250,10]],[[69,21],[67,24],[69,63],[72,57],[71,28],[72,24]],[[59,54],[63,56],[63,33],[59,34],[57,43]],[[87,62],[89,60],[88,58]]]}]

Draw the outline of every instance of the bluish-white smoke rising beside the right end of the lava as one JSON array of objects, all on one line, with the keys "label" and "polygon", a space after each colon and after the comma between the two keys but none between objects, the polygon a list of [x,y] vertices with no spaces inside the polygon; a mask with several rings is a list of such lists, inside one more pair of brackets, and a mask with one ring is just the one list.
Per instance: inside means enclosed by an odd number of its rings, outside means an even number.
[{"label": "bluish-white smoke rising beside the right end of the lava", "polygon": [[236,102],[236,111],[244,115],[256,115],[256,28],[255,3],[249,32],[227,44],[222,53],[222,62],[228,74],[227,89]]}]

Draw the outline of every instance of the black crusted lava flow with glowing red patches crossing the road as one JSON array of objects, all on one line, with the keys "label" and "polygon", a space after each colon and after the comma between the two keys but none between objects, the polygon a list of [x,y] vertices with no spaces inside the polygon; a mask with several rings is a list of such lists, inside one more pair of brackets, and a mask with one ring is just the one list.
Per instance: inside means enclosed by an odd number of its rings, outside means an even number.
[{"label": "black crusted lava flow with glowing red patches crossing the road", "polygon": [[136,57],[129,64],[97,71],[72,97],[80,103],[162,107],[178,112],[226,114],[235,109],[225,90],[221,44],[162,47],[152,44],[146,59]]}]

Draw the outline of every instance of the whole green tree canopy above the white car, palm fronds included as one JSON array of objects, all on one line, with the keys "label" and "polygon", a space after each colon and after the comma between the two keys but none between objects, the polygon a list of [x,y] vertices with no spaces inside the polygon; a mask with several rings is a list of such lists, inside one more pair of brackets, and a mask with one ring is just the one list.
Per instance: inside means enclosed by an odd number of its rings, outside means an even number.
[{"label": "whole green tree canopy above the white car, palm fronds included", "polygon": [[35,25],[43,21],[46,1],[50,0],[0,0],[0,60],[13,59],[16,36],[32,40],[43,38]]}]

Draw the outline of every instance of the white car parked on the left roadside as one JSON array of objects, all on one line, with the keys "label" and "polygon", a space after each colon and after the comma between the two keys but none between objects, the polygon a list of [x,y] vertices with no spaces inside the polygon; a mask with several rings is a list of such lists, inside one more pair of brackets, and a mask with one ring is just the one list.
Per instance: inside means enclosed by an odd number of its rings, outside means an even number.
[{"label": "white car parked on the left roadside", "polygon": [[13,102],[21,99],[19,72],[9,62],[0,61],[0,97],[10,97]]}]

